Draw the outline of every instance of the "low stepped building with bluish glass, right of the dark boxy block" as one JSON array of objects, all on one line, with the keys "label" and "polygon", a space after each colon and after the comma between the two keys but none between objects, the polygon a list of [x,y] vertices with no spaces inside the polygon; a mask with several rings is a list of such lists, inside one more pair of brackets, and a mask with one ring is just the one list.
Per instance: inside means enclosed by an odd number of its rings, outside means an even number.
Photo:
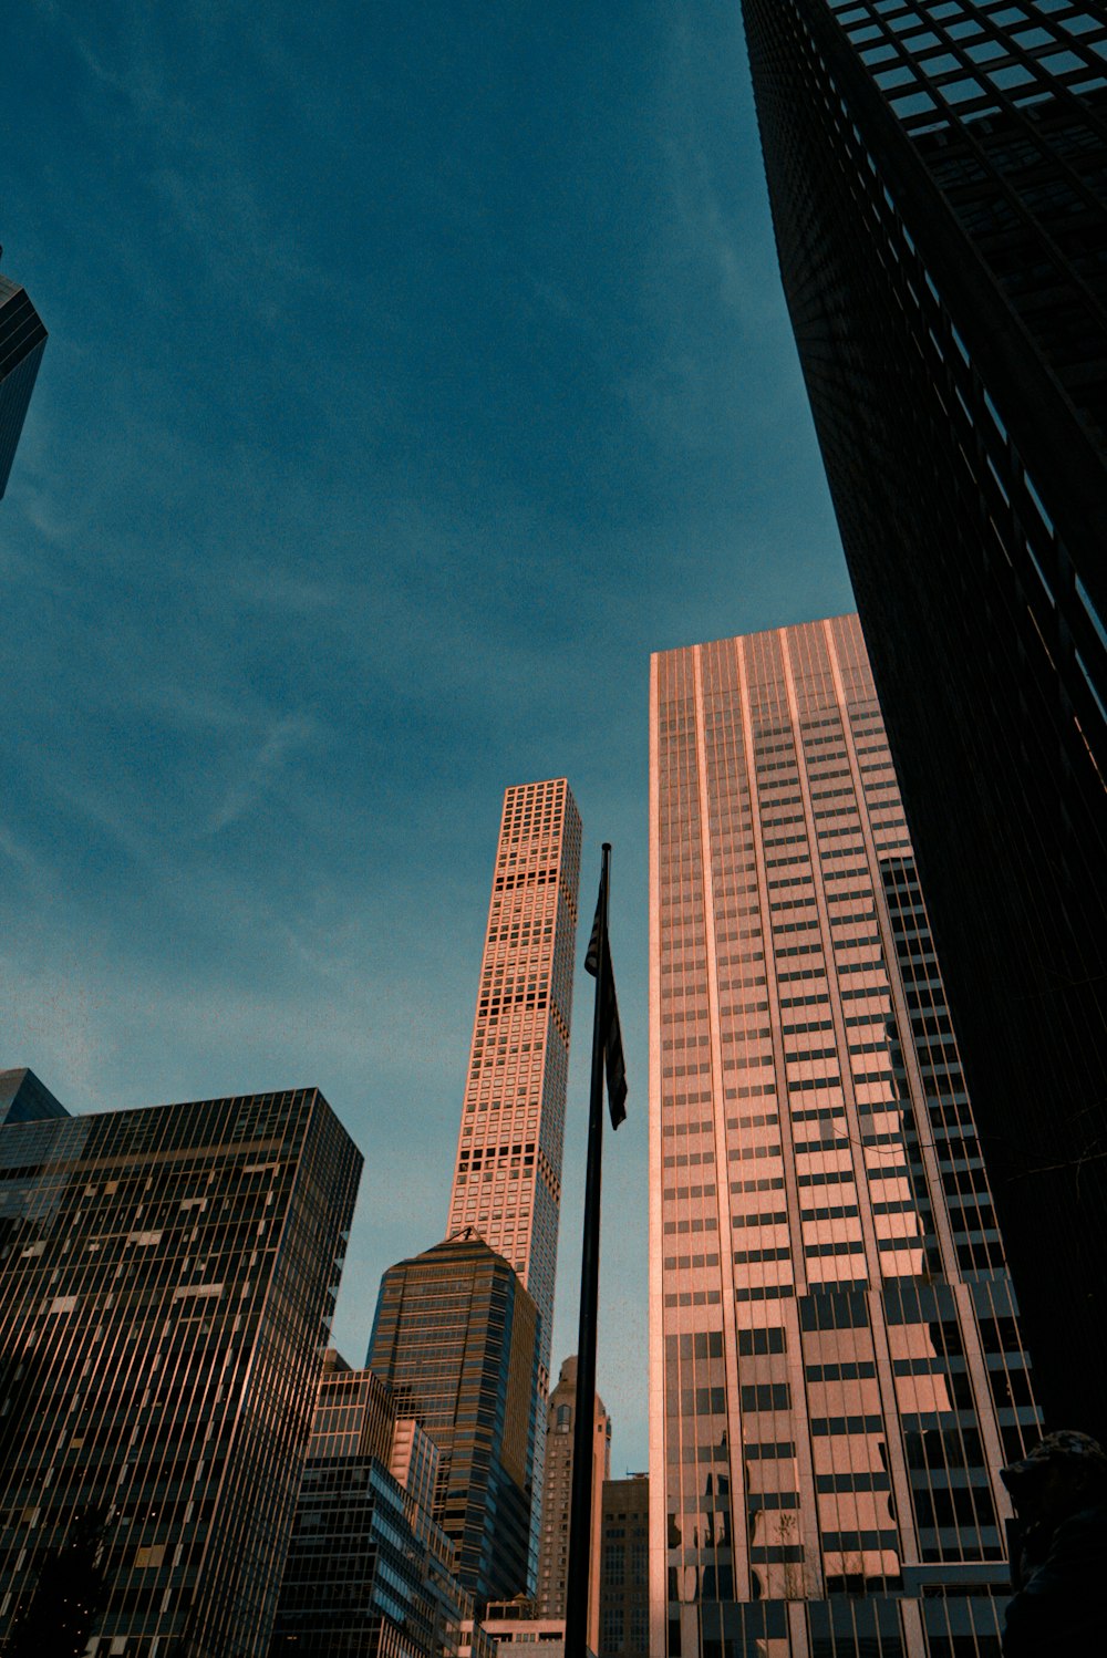
[{"label": "low stepped building with bluish glass, right of the dark boxy block", "polygon": [[371,1370],[328,1355],[270,1658],[457,1658],[472,1600],[431,1509],[437,1446]]}]

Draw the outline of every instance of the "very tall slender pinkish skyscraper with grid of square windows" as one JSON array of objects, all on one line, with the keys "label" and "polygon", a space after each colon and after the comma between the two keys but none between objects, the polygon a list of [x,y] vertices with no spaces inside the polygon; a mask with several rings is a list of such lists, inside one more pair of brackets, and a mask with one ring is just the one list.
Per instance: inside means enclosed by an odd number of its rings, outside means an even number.
[{"label": "very tall slender pinkish skyscraper with grid of square windows", "polygon": [[472,1227],[539,1308],[550,1374],[580,812],[565,778],[504,794],[447,1232]]}]

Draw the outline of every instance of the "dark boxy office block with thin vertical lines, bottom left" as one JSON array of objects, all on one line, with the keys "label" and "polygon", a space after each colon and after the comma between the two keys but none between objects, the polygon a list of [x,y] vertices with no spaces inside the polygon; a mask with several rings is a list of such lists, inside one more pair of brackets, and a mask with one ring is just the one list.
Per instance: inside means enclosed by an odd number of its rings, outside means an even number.
[{"label": "dark boxy office block with thin vertical lines, bottom left", "polygon": [[0,1129],[0,1636],[94,1514],[89,1655],[262,1658],[360,1169],[317,1089]]}]

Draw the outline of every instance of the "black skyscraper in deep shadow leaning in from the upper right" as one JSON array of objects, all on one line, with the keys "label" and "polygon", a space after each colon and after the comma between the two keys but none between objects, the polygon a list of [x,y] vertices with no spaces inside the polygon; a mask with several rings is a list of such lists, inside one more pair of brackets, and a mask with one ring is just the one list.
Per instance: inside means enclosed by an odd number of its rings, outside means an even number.
[{"label": "black skyscraper in deep shadow leaning in from the upper right", "polygon": [[1107,18],[742,0],[784,287],[1047,1414],[1107,1429]]}]

